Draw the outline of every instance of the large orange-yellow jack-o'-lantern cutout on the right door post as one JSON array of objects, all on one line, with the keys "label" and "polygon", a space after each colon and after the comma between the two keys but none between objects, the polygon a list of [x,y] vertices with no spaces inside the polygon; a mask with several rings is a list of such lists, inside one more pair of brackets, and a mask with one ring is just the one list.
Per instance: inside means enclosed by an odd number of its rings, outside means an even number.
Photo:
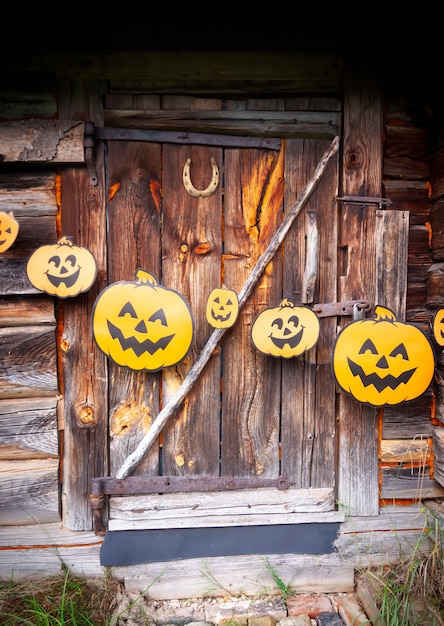
[{"label": "large orange-yellow jack-o'-lantern cutout on the right door post", "polygon": [[333,346],[333,374],[358,402],[373,407],[419,397],[435,369],[431,342],[414,324],[400,322],[377,305],[373,319],[355,320],[339,332]]}]

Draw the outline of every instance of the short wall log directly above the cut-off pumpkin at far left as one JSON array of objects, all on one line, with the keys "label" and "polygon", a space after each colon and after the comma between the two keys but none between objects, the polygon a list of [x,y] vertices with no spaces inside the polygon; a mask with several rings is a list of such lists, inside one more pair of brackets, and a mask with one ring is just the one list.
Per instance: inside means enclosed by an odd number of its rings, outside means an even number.
[{"label": "short wall log directly above the cut-off pumpkin at far left", "polygon": [[0,210],[12,211],[16,219],[57,214],[55,172],[0,173]]}]

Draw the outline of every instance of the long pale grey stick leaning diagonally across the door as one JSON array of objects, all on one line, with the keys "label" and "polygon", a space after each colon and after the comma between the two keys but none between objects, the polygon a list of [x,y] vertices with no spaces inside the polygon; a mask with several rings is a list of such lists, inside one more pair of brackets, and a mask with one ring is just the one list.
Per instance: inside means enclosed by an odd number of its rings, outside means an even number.
[{"label": "long pale grey stick leaning diagonally across the door", "polygon": [[[291,207],[290,211],[285,216],[282,224],[279,226],[275,234],[270,240],[266,250],[259,257],[253,271],[245,281],[244,286],[238,294],[239,299],[239,308],[245,304],[248,296],[253,290],[254,285],[262,275],[263,271],[267,267],[268,263],[271,261],[279,246],[284,241],[285,236],[290,229],[290,226],[293,224],[296,217],[301,212],[302,207],[305,202],[310,197],[317,183],[319,182],[322,174],[324,173],[325,168],[327,167],[328,162],[332,158],[334,154],[338,151],[339,148],[339,137],[335,137],[330,144],[330,147],[323,155],[322,159],[319,161],[316,170],[314,171],[313,176],[308,181],[301,195],[298,197],[294,205]],[[213,350],[216,348],[219,343],[221,337],[225,333],[226,328],[215,328],[211,335],[208,338],[207,343],[205,344],[202,352],[199,354],[195,363],[190,368],[188,374],[183,379],[182,384],[179,389],[173,395],[171,400],[166,404],[163,409],[160,411],[154,422],[152,423],[149,431],[143,437],[143,439],[139,442],[137,448],[132,452],[122,463],[121,467],[116,473],[116,478],[126,478],[133,471],[133,469],[137,466],[138,463],[143,459],[145,454],[148,452],[150,447],[153,445],[156,438],[160,435],[162,428],[165,423],[171,417],[171,415],[180,407],[195,382],[199,378],[200,373],[203,368],[207,364],[210,359]]]}]

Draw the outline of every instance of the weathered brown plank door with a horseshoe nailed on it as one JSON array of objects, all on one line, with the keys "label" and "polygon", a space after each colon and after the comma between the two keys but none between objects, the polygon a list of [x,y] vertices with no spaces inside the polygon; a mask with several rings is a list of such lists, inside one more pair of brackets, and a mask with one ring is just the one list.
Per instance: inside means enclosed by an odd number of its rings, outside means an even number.
[{"label": "weathered brown plank door with a horseshoe nailed on it", "polygon": [[[242,292],[331,141],[284,137],[273,148],[251,147],[247,141],[246,147],[242,142],[240,147],[212,145],[211,136],[207,145],[108,141],[108,284],[131,281],[135,270],[144,268],[187,300],[195,325],[189,354],[174,367],[136,372],[108,363],[111,476],[122,476],[125,459],[149,434],[161,408],[174,401],[208,345],[211,291],[225,286]],[[190,195],[184,165],[189,160],[192,184],[201,190],[211,179],[212,159],[220,174],[215,192]],[[278,308],[284,298],[309,307],[336,302],[337,186],[335,156],[236,323],[224,332],[132,475],[269,479],[275,481],[271,492],[285,477],[298,497],[297,514],[313,510],[313,498],[320,510],[334,509],[336,392],[330,351],[337,318],[322,317],[317,345],[297,358],[262,353],[252,342],[251,328],[260,312]],[[314,275],[307,288],[308,270]],[[199,500],[198,483],[196,490]],[[246,493],[232,497],[242,501]],[[249,497],[262,503],[272,498],[268,489],[254,496],[250,491]],[[138,508],[131,498],[122,500],[111,501],[114,527],[125,527],[117,518]],[[140,516],[134,519],[133,526],[144,523]]]}]

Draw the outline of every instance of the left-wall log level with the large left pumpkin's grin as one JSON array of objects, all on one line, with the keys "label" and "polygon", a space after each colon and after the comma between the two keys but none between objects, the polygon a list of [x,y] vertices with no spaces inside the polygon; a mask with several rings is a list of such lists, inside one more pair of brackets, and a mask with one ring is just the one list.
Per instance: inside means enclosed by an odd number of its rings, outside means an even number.
[{"label": "left-wall log level with the large left pumpkin's grin", "polygon": [[55,329],[0,328],[0,397],[58,393]]}]

